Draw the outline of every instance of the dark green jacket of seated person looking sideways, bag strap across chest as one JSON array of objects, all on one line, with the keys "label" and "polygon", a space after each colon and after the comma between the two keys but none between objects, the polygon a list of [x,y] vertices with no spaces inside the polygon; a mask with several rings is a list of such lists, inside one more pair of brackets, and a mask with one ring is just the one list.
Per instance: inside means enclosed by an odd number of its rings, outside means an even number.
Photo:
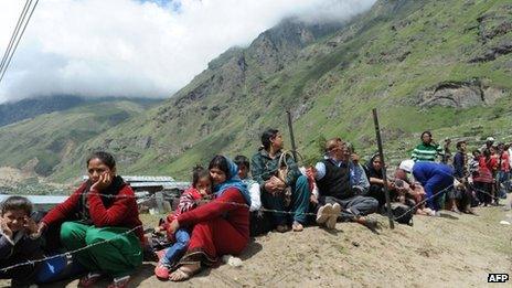
[{"label": "dark green jacket of seated person looking sideways, bag strap across chest", "polygon": [[[253,156],[250,160],[250,174],[262,189],[265,186],[265,181],[269,180],[273,175],[277,175],[277,166],[281,153],[281,151],[277,152],[276,157],[271,159],[267,150],[262,149]],[[300,177],[300,171],[292,157],[288,156],[286,162],[288,164],[288,175],[285,182],[287,186],[290,186]]]}]

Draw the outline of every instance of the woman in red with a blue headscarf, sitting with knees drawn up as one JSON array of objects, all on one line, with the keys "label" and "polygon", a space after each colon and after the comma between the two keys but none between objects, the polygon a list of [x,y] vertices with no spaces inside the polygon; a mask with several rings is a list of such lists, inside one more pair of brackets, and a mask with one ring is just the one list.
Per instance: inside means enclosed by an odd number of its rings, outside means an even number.
[{"label": "woman in red with a blue headscarf, sitting with knees drawn up", "polygon": [[190,226],[189,248],[169,279],[182,281],[214,265],[218,257],[239,254],[249,242],[250,196],[238,178],[238,168],[224,156],[215,156],[209,166],[215,199],[181,214],[170,224],[171,231]]}]

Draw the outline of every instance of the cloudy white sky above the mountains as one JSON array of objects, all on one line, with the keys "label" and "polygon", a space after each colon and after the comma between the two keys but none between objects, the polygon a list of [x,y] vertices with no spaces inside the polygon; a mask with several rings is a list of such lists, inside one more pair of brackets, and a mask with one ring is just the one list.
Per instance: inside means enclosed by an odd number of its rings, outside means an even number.
[{"label": "cloudy white sky above the mountains", "polygon": [[[0,52],[24,0],[0,1]],[[0,103],[56,94],[168,97],[281,19],[344,21],[375,0],[40,0]]]}]

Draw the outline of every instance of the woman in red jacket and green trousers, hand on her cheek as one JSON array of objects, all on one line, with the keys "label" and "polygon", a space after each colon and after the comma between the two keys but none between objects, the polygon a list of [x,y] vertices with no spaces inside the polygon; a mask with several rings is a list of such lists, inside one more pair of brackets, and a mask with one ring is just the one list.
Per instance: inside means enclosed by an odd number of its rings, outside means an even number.
[{"label": "woman in red jacket and green trousers, hand on her cheek", "polygon": [[107,152],[93,153],[87,172],[89,180],[51,210],[40,230],[64,222],[61,242],[67,250],[95,244],[76,253],[89,271],[81,287],[92,286],[104,275],[114,278],[109,288],[126,287],[130,274],[142,264],[143,231],[134,191],[116,175],[116,161]]}]

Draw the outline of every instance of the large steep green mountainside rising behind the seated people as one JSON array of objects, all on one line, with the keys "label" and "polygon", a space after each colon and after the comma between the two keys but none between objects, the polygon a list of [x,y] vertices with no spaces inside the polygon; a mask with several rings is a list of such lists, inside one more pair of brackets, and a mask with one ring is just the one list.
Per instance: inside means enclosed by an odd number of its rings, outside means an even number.
[{"label": "large steep green mountainside rising behind the seated people", "polygon": [[373,107],[393,159],[425,129],[438,140],[510,140],[511,31],[505,0],[382,0],[342,26],[289,19],[226,51],[162,105],[77,145],[52,178],[76,175],[88,151],[106,149],[124,172],[186,179],[215,153],[253,154],[267,127],[288,136],[286,110],[307,160],[333,136],[374,151]]}]

